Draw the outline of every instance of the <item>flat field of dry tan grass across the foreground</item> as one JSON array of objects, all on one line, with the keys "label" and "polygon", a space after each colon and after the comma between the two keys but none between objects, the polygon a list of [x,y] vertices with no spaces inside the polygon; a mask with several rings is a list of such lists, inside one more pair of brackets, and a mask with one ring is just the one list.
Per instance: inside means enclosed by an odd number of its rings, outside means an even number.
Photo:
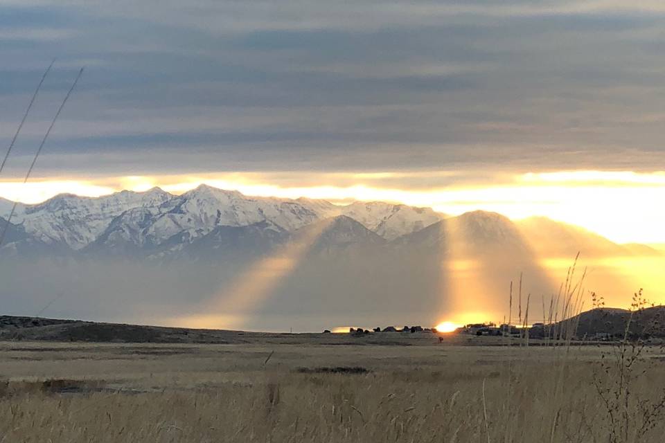
[{"label": "flat field of dry tan grass across the foreground", "polygon": [[414,335],[3,342],[0,442],[662,442],[657,348]]}]

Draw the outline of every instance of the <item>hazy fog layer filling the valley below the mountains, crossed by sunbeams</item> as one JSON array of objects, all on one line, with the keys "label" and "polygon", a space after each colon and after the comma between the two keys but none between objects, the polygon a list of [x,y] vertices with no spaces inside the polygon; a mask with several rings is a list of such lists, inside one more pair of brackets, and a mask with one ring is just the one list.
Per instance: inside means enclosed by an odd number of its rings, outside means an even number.
[{"label": "hazy fog layer filling the valley below the mountains, crossed by sunbeams", "polygon": [[[257,269],[261,258],[223,264],[19,260],[0,267],[7,294],[3,306],[6,314],[182,327],[294,332],[344,325],[431,327],[442,320],[502,321],[508,316],[511,280],[517,316],[522,271],[523,303],[531,293],[531,318],[537,322],[542,321],[542,296],[549,304],[571,263],[518,266],[496,255],[485,257],[495,264],[489,269],[479,260],[445,261],[434,251],[350,253],[310,252],[286,269]],[[654,294],[655,288],[641,282],[657,284],[655,269],[662,264],[658,257],[639,259],[639,268],[612,260],[580,261],[578,275],[583,264],[589,266],[585,288],[602,294],[611,306],[626,306],[640,287]],[[585,303],[590,306],[590,300]]]}]

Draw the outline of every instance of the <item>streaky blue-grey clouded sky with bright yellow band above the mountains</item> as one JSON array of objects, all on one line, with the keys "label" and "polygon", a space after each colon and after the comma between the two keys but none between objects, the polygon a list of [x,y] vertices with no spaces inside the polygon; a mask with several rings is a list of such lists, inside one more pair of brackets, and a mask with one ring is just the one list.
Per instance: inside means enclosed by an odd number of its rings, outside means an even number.
[{"label": "streaky blue-grey clouded sky with bright yellow band above the mountains", "polygon": [[0,0],[0,150],[57,58],[0,196],[205,182],[665,243],[664,37],[659,1]]}]

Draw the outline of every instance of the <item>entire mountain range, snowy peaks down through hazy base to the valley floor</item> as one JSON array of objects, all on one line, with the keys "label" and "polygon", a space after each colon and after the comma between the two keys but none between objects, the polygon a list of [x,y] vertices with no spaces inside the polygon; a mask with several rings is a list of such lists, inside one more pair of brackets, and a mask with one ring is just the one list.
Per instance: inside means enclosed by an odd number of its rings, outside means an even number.
[{"label": "entire mountain range, snowy peaks down through hazy base to the valley floor", "polygon": [[[0,217],[12,205],[0,200]],[[660,260],[649,246],[616,244],[542,217],[448,217],[404,204],[339,206],[210,186],[182,195],[159,188],[58,195],[17,204],[0,247],[0,295],[6,314],[48,309],[104,321],[201,325],[180,319],[242,311],[237,323],[204,324],[434,324],[445,312],[505,313],[508,284],[520,273],[525,292],[556,293],[565,269],[547,269],[542,259],[568,266],[578,251],[587,260]],[[615,293],[617,304],[641,287],[606,266],[589,278],[595,291]],[[70,301],[53,301],[60,298]]]}]

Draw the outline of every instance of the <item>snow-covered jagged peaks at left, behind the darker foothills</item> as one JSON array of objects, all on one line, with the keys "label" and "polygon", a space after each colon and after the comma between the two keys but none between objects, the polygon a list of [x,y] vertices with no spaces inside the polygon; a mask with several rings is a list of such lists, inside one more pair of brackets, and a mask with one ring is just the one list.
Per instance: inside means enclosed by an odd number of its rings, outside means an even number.
[{"label": "snow-covered jagged peaks at left, behind the darker foothills", "polygon": [[[0,201],[0,216],[6,217],[11,206],[10,201]],[[238,191],[202,185],[183,195],[159,188],[98,198],[58,195],[42,204],[18,204],[12,223],[44,244],[74,251],[134,253],[162,245],[181,249],[220,226],[267,223],[294,233],[337,215],[346,215],[385,239],[441,219],[431,209],[405,205],[375,202],[337,206],[325,200],[247,197]]]}]

